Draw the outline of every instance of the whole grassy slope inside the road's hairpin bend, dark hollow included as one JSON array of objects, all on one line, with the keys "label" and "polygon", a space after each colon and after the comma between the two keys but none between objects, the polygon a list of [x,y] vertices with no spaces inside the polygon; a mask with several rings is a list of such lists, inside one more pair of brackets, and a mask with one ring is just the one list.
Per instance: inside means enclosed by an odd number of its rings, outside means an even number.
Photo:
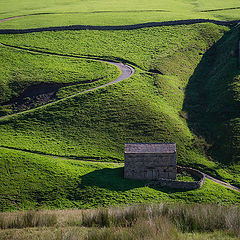
[{"label": "whole grassy slope inside the road's hairpin bend, dark hollow included", "polygon": [[[43,98],[39,99],[39,104],[44,104],[47,101],[44,97],[51,91],[54,94],[59,89],[63,95],[69,88],[76,88],[80,92],[88,85],[91,87],[91,82],[102,85],[119,75],[118,69],[103,62],[24,52],[3,45],[0,56],[0,104],[3,105],[0,115],[10,114],[14,108],[19,110],[16,105],[21,101],[29,105],[34,92]],[[35,96],[35,102],[38,97]],[[58,94],[57,98],[60,97]],[[53,95],[52,98],[56,97]]]}]

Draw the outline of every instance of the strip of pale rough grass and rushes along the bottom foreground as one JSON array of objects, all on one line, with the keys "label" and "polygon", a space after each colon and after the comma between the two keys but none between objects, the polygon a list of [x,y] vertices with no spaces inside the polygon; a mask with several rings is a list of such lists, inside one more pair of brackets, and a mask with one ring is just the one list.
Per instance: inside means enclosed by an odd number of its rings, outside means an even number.
[{"label": "strip of pale rough grass and rushes along the bottom foreground", "polygon": [[[237,239],[238,207],[140,205],[96,210],[0,214],[1,239]],[[30,217],[27,224],[19,219]],[[32,224],[33,217],[41,224]],[[49,216],[54,221],[49,221]],[[19,223],[16,224],[16,223]],[[23,230],[10,230],[12,227]],[[29,228],[34,227],[34,228]],[[50,227],[50,228],[49,228]],[[202,238],[201,238],[202,237]],[[221,238],[220,238],[221,237]]]}]

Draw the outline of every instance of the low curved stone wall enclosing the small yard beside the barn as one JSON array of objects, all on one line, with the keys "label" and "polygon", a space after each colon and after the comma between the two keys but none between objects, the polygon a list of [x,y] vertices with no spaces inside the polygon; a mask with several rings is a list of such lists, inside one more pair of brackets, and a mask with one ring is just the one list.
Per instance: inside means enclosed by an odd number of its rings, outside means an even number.
[{"label": "low curved stone wall enclosing the small yard beside the barn", "polygon": [[205,175],[200,171],[188,168],[188,167],[180,167],[177,166],[177,172],[186,171],[191,174],[193,177],[198,178],[199,180],[194,182],[185,182],[185,181],[177,181],[171,179],[159,179],[157,181],[146,184],[146,186],[160,186],[160,187],[170,187],[176,189],[185,189],[185,190],[193,190],[202,187],[205,182]]}]

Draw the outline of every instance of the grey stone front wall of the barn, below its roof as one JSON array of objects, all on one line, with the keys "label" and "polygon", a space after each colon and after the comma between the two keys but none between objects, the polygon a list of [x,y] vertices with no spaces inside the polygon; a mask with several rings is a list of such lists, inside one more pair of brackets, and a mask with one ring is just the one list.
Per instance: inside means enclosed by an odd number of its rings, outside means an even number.
[{"label": "grey stone front wall of the barn, below its roof", "polygon": [[124,177],[129,179],[176,179],[176,154],[127,153]]}]

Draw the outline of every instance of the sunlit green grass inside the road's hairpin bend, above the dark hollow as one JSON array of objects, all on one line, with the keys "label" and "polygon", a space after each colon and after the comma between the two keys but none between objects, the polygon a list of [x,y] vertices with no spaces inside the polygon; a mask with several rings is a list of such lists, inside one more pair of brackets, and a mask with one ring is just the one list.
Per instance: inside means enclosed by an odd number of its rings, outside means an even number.
[{"label": "sunlit green grass inside the road's hairpin bend, above the dark hollow", "polygon": [[0,56],[0,103],[40,82],[68,83],[79,88],[81,82],[100,79],[101,85],[102,80],[108,82],[120,74],[115,66],[99,61],[43,55],[3,45],[0,46]]}]

